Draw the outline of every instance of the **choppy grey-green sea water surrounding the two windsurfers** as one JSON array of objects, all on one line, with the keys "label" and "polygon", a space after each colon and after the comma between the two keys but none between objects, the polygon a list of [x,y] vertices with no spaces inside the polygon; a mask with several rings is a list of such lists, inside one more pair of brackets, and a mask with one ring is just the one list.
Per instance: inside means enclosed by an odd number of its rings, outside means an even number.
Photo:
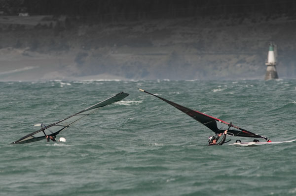
[{"label": "choppy grey-green sea water surrounding the two windsurfers", "polygon": [[[296,139],[292,79],[2,82],[0,196],[296,195],[296,143],[208,146],[211,130],[138,88],[273,141]],[[66,142],[10,144],[121,91],[130,95],[57,136]]]}]

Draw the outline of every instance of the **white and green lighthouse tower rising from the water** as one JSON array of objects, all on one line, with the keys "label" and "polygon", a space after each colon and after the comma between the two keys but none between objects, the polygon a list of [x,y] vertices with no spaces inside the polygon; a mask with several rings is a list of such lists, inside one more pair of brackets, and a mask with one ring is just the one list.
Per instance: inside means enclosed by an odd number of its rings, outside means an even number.
[{"label": "white and green lighthouse tower rising from the water", "polygon": [[267,61],[265,65],[266,68],[266,74],[264,80],[271,80],[271,79],[278,79],[277,71],[275,68],[276,65],[276,53],[275,53],[275,45],[274,43],[270,43],[269,45],[269,51],[267,56]]}]

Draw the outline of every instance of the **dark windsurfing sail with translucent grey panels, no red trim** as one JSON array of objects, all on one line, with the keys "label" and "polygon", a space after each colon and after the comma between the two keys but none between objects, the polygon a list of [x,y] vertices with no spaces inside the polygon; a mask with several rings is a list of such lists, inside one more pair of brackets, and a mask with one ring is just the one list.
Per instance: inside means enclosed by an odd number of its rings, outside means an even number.
[{"label": "dark windsurfing sail with translucent grey panels, no red trim", "polygon": [[71,116],[68,116],[67,118],[59,120],[59,121],[52,123],[48,126],[45,126],[44,124],[40,124],[41,129],[21,138],[19,140],[16,140],[13,143],[29,143],[29,142],[33,142],[33,141],[43,140],[46,138],[46,136],[56,136],[61,131],[65,130],[70,125],[72,125],[74,122],[83,118],[84,116],[87,116],[90,113],[95,112],[96,110],[98,110],[106,105],[120,101],[120,100],[124,99],[125,97],[127,97],[128,95],[129,94],[127,94],[127,93],[120,92],[116,95],[113,95],[112,97],[110,97],[108,99],[105,99],[104,101],[101,101],[93,106],[90,106],[80,112],[77,112]]}]

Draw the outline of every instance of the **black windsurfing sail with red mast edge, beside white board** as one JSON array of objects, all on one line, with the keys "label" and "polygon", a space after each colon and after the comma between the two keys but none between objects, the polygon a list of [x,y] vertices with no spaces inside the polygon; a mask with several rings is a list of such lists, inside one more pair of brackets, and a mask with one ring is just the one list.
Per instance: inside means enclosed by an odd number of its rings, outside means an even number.
[{"label": "black windsurfing sail with red mast edge, beside white board", "polygon": [[269,140],[269,138],[266,138],[264,136],[260,136],[258,134],[255,134],[255,133],[252,133],[252,132],[247,131],[245,129],[242,129],[242,128],[238,127],[238,126],[233,125],[232,123],[225,122],[223,120],[220,120],[218,118],[215,118],[213,116],[207,115],[207,114],[202,113],[202,112],[191,110],[189,108],[186,108],[184,106],[181,106],[179,104],[171,102],[171,101],[169,101],[167,99],[164,99],[162,97],[159,97],[157,95],[149,93],[146,90],[143,90],[141,88],[139,90],[141,90],[143,92],[146,92],[146,93],[148,93],[150,95],[153,95],[154,97],[157,97],[157,98],[167,102],[168,104],[174,106],[178,110],[184,112],[185,114],[187,114],[190,117],[194,118],[198,122],[202,123],[203,125],[205,125],[209,129],[214,131],[216,134],[220,134],[220,133],[223,133],[225,130],[228,130],[227,134],[230,133],[233,136],[250,137],[250,138],[262,138],[262,139],[265,139],[265,140]]}]

